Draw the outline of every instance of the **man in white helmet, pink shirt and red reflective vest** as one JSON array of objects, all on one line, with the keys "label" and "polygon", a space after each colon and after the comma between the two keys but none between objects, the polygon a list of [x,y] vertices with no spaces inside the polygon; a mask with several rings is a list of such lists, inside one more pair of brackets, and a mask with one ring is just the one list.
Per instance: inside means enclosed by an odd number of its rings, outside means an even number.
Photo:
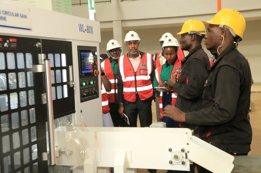
[{"label": "man in white helmet, pink shirt and red reflective vest", "polygon": [[151,101],[154,98],[152,83],[155,72],[152,55],[138,51],[140,37],[129,31],[124,39],[129,52],[119,58],[118,103],[119,114],[125,113],[130,127],[149,127],[152,123]]}]

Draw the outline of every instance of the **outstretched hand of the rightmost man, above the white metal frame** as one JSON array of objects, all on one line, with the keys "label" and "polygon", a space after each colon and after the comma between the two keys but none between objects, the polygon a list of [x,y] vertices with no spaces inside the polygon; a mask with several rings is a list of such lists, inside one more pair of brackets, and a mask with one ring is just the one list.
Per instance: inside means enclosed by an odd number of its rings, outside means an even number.
[{"label": "outstretched hand of the rightmost man, above the white metal frame", "polygon": [[186,122],[185,113],[175,106],[165,106],[164,111],[161,113],[161,115],[163,117],[169,117],[171,119],[174,119],[177,122]]}]

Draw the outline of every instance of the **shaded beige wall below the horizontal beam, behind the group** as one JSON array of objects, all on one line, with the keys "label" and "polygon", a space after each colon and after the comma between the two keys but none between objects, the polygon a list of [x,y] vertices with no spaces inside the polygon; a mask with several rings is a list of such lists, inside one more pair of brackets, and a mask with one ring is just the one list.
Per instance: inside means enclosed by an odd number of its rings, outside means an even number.
[{"label": "shaded beige wall below the horizontal beam, behind the group", "polygon": [[[207,25],[206,25],[207,26]],[[250,62],[252,77],[254,82],[261,82],[261,41],[259,37],[259,32],[261,28],[261,21],[250,21],[246,22],[246,30],[244,32],[244,38],[239,43],[238,50],[248,59]],[[139,46],[140,51],[145,51],[151,54],[155,54],[161,50],[159,46],[159,38],[165,33],[170,32],[173,34],[177,40],[180,39],[180,36],[176,35],[177,32],[180,32],[181,27],[171,27],[171,28],[153,28],[153,29],[137,29],[135,30],[140,38],[141,43]],[[125,30],[124,34],[127,34],[129,30]],[[113,32],[101,32],[102,41],[99,44],[100,53],[106,53],[106,44],[110,39],[113,39]],[[123,45],[125,46],[125,45]],[[206,50],[204,41],[202,41],[202,46],[207,52],[209,57],[211,56],[210,52]],[[126,52],[123,52],[126,53]],[[122,53],[122,55],[123,55]]]}]

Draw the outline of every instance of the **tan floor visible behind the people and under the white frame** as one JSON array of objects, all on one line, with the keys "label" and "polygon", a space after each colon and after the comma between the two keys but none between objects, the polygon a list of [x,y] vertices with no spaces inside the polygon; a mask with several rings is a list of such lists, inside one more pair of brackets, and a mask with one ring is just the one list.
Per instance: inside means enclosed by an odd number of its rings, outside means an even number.
[{"label": "tan floor visible behind the people and under the white frame", "polygon": [[[253,137],[251,143],[251,151],[248,153],[249,156],[261,156],[261,85],[253,85],[251,91],[256,93],[251,94],[251,112],[250,112],[250,123],[252,126]],[[257,91],[260,91],[258,93]],[[152,122],[156,122],[156,109],[155,103],[152,102]],[[138,127],[139,121],[137,123]],[[137,169],[137,173],[147,173],[147,169]],[[232,171],[233,172],[233,171]],[[157,173],[166,173],[166,170],[157,170]],[[195,170],[197,173],[197,170]]]}]

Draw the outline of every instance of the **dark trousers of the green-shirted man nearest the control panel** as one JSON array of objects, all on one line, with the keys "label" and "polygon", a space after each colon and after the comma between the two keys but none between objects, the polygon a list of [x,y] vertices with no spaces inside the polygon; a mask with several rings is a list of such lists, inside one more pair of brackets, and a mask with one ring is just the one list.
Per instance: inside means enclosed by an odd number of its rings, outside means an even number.
[{"label": "dark trousers of the green-shirted man nearest the control panel", "polygon": [[109,103],[111,119],[114,127],[127,127],[127,123],[118,113],[119,104],[118,103]]}]

